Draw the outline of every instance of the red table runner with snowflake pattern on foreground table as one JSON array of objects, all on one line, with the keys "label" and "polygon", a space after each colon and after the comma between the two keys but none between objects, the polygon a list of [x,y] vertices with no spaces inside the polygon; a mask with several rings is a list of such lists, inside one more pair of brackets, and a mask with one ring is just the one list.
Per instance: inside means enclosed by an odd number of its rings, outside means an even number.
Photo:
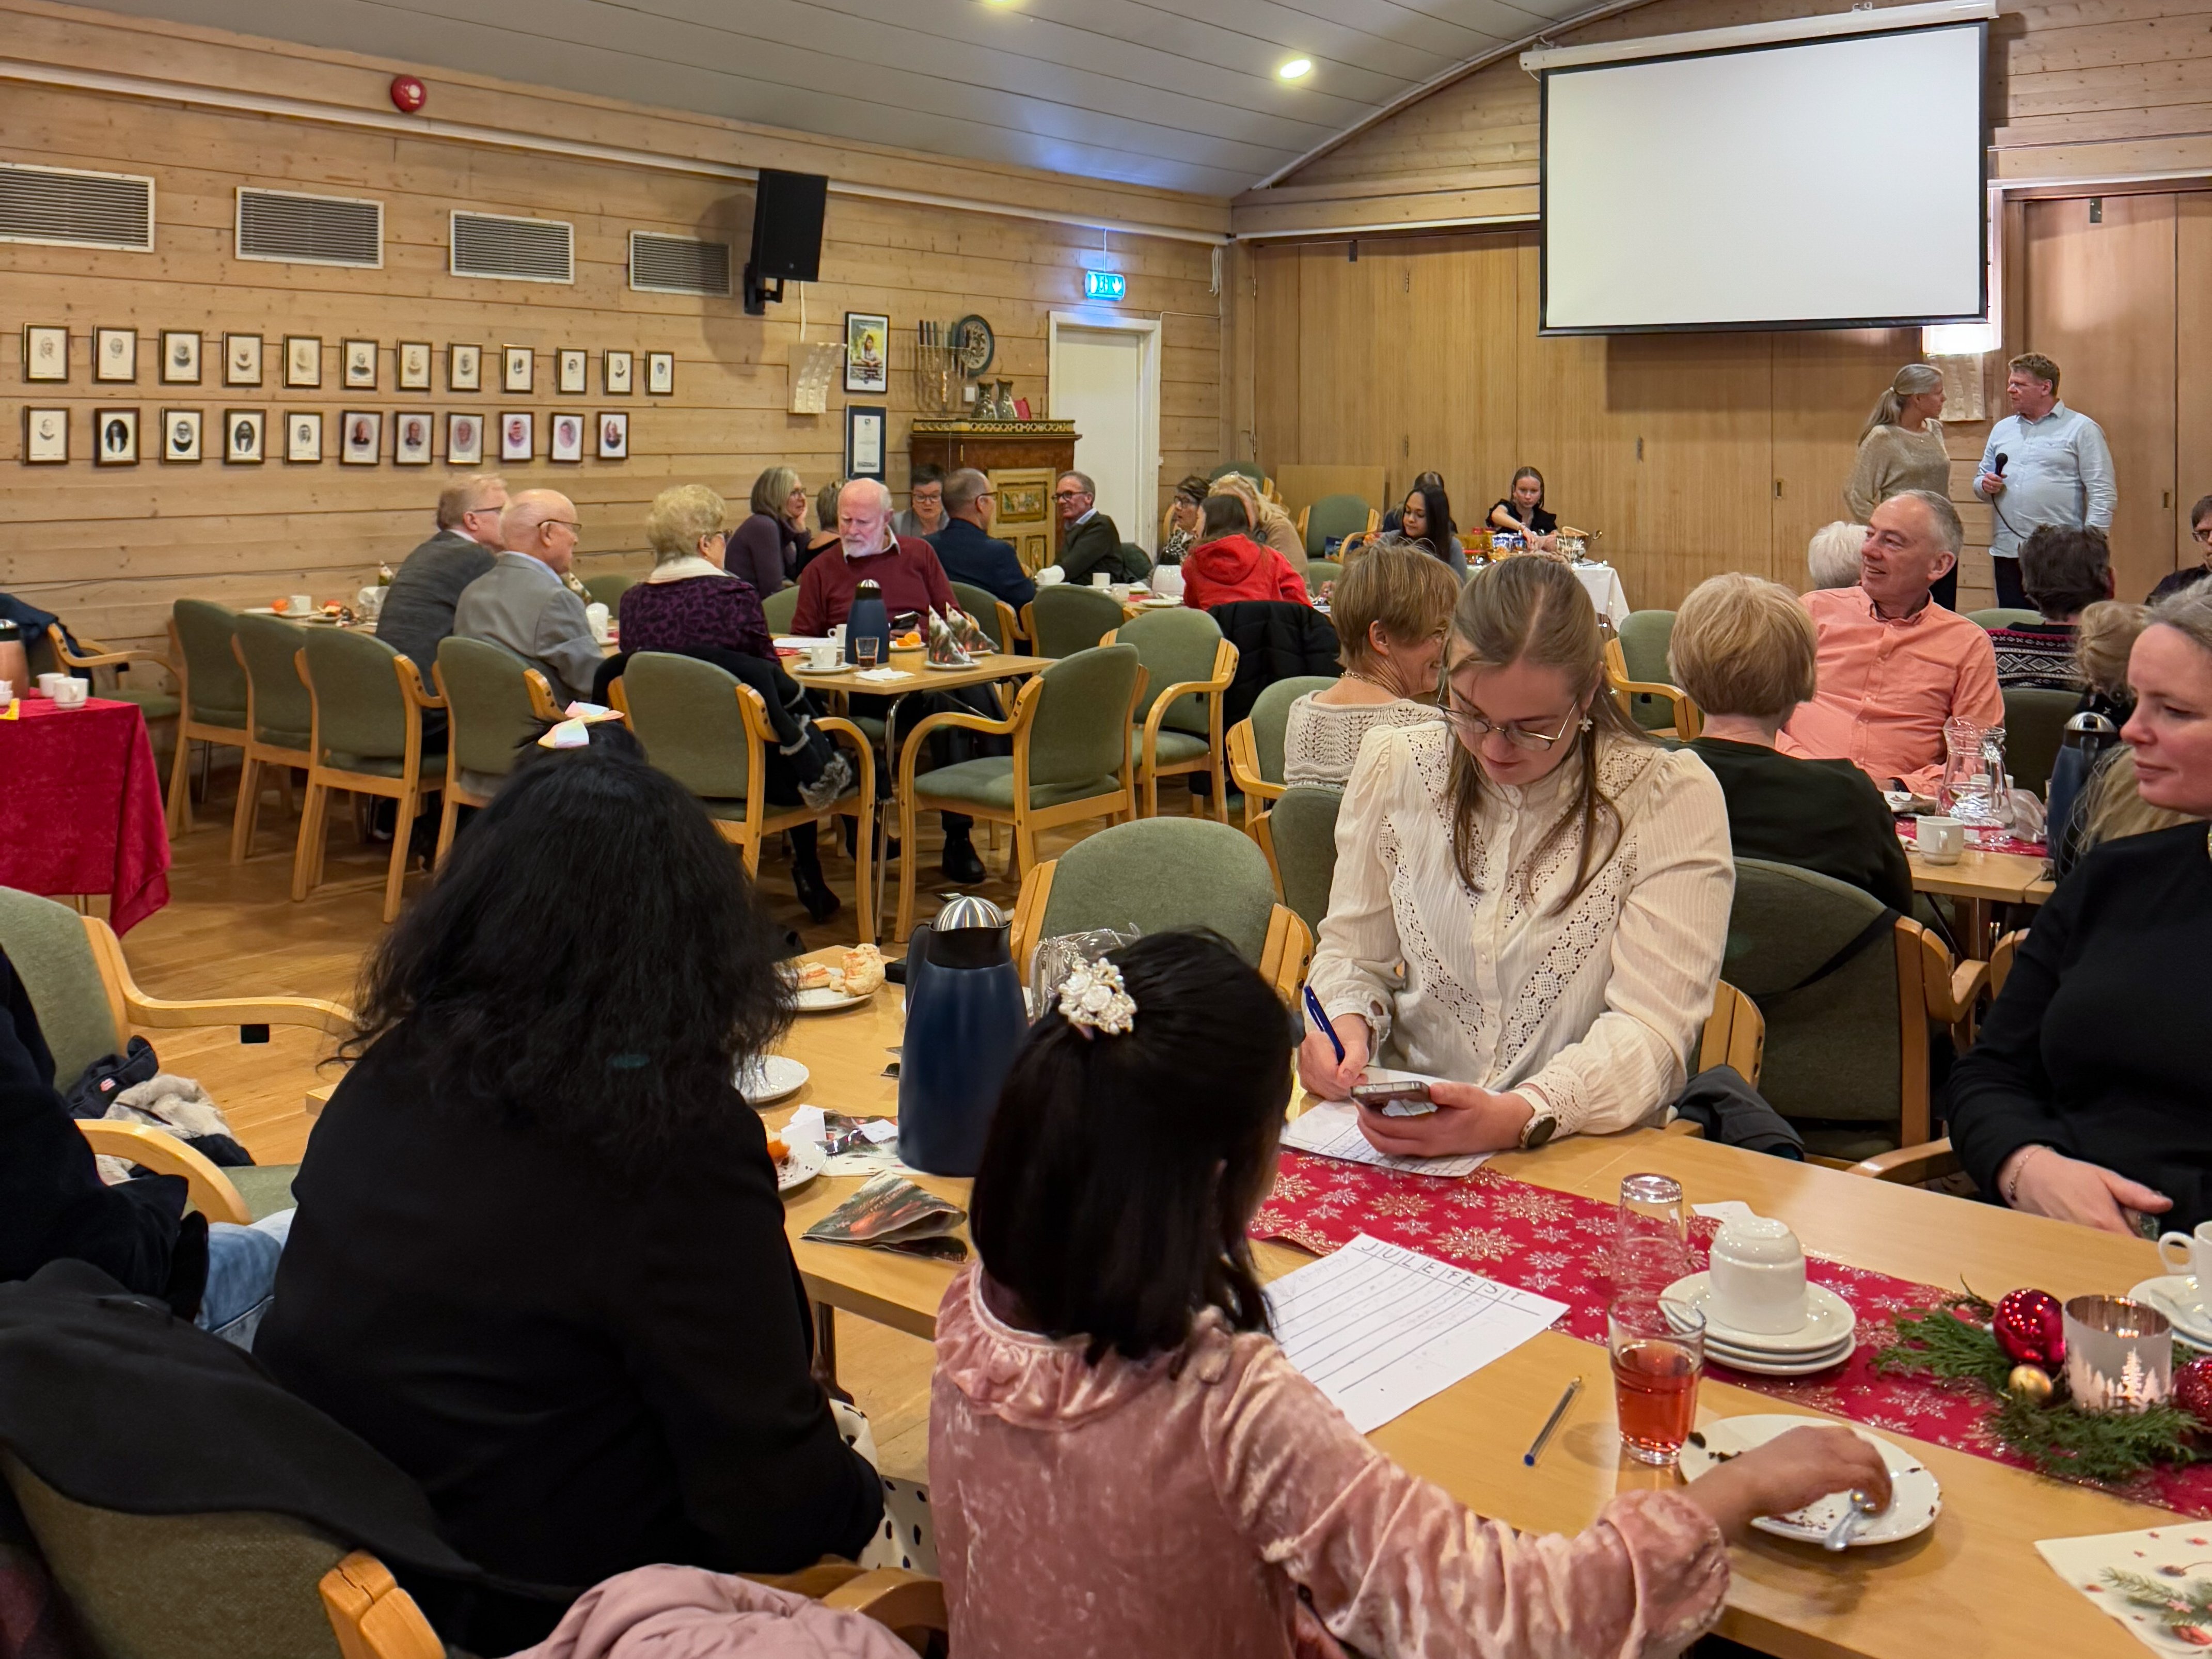
[{"label": "red table runner with snowflake pattern on foreground table", "polygon": [[[1586,1343],[1606,1340],[1613,1228],[1610,1203],[1491,1170],[1440,1179],[1336,1164],[1305,1152],[1283,1152],[1274,1194],[1252,1219],[1254,1239],[1283,1239],[1321,1256],[1367,1232],[1502,1285],[1553,1296],[1566,1303],[1559,1329]],[[1712,1221],[1692,1219],[1697,1267],[1705,1265],[1705,1245],[1714,1232]],[[1889,1316],[1933,1307],[1953,1292],[1825,1256],[1809,1256],[1805,1272],[1858,1314],[1858,1349],[1851,1358],[1812,1378],[1752,1376],[1714,1360],[1710,1369],[1717,1380],[1865,1422],[1869,1429],[1931,1440],[2015,1469],[2028,1467],[1984,1427],[1991,1416],[1986,1398],[1964,1385],[1874,1371],[1874,1354],[1891,1340]],[[2159,1469],[2108,1491],[2183,1515],[2212,1517],[2212,1464]]]}]

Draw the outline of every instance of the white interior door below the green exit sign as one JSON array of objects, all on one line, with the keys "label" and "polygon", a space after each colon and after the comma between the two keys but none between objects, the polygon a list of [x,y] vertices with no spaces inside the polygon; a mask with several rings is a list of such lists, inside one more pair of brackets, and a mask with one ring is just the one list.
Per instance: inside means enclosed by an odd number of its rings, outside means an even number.
[{"label": "white interior door below the green exit sign", "polygon": [[1159,540],[1159,323],[1095,325],[1053,316],[1051,403],[1075,422],[1075,469],[1124,542]]}]

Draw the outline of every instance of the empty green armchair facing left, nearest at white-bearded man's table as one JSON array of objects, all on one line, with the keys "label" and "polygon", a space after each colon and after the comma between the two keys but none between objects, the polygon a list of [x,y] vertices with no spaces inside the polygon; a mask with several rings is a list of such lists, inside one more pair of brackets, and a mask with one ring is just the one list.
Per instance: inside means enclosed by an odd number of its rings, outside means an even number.
[{"label": "empty green armchair facing left, nearest at white-bearded man's table", "polygon": [[[1040,830],[1084,818],[1121,823],[1137,816],[1130,717],[1139,708],[1144,684],[1135,646],[1093,646],[1033,675],[1002,721],[956,712],[916,721],[898,752],[898,821],[907,847],[898,860],[898,938],[914,931],[918,860],[911,847],[918,812],[964,812],[984,823],[1011,823],[1013,860],[1024,876],[1037,863]],[[922,743],[938,730],[1004,737],[1013,754],[987,754],[916,774]]]}]

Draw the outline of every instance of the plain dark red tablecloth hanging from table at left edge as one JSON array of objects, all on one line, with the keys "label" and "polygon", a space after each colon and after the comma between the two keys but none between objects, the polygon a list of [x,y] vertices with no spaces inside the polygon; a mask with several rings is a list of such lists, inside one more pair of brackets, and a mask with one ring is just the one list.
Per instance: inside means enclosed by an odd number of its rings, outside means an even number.
[{"label": "plain dark red tablecloth hanging from table at left edge", "polygon": [[0,719],[0,887],[108,894],[126,933],[168,902],[166,869],[161,781],[135,703],[24,697]]}]

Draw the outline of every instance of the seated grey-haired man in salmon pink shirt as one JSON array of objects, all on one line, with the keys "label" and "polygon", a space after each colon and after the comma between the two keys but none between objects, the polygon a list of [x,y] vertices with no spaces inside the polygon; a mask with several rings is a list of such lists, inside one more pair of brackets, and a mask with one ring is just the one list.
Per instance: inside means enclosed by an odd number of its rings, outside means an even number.
[{"label": "seated grey-haired man in salmon pink shirt", "polygon": [[1783,754],[1851,761],[1880,790],[1933,796],[1944,721],[2004,723],[1989,635],[1929,597],[1962,544],[1958,509],[1933,491],[1874,509],[1858,586],[1805,595],[1820,635],[1820,690],[1781,730]]}]

